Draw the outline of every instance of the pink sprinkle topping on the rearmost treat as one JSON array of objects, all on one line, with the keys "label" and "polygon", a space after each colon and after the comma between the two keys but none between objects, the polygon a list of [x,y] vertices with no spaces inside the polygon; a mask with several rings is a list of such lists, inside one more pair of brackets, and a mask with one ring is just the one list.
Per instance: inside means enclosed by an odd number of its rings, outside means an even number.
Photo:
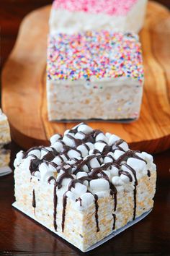
[{"label": "pink sprinkle topping on the rearmost treat", "polygon": [[55,0],[53,9],[92,14],[126,15],[137,0]]}]

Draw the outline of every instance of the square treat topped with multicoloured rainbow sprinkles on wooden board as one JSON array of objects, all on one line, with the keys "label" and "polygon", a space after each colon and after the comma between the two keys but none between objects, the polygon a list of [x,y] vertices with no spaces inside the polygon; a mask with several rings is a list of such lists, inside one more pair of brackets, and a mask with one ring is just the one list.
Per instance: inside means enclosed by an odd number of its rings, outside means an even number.
[{"label": "square treat topped with multicoloured rainbow sprinkles on wooden board", "polygon": [[102,30],[48,38],[50,120],[138,119],[143,61],[138,35]]}]

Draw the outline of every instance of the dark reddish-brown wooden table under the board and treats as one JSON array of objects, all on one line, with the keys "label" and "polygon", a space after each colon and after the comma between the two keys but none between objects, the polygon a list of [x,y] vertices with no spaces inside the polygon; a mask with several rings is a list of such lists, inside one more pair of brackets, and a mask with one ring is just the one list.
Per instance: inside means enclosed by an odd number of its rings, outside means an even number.
[{"label": "dark reddish-brown wooden table under the board and treats", "polygon": [[[170,7],[169,0],[159,1]],[[1,0],[1,67],[17,37],[19,23],[32,9],[50,0]],[[21,150],[12,142],[12,161]],[[154,155],[158,169],[155,205],[140,223],[88,255],[170,255],[170,150]],[[12,167],[13,168],[13,167]],[[0,178],[0,255],[84,255],[30,218],[12,208],[13,174]]]}]

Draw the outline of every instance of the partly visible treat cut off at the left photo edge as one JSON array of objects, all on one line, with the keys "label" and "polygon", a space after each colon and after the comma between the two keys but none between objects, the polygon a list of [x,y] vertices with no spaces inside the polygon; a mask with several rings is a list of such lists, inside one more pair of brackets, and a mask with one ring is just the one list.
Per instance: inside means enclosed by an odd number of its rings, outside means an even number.
[{"label": "partly visible treat cut off at the left photo edge", "polygon": [[[11,142],[9,122],[4,113],[0,109],[0,168],[9,165]],[[0,170],[1,173],[1,170]]]}]

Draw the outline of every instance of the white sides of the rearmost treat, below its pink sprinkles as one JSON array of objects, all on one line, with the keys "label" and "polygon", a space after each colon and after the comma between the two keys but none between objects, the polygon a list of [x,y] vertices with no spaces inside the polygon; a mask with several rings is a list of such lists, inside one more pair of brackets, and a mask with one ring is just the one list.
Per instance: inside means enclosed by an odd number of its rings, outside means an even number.
[{"label": "white sides of the rearmost treat, below its pink sprinkles", "polygon": [[52,9],[50,14],[50,33],[76,33],[82,30],[133,31],[138,33],[143,26],[146,0],[138,0],[127,15],[91,14],[69,12],[66,9]]}]

